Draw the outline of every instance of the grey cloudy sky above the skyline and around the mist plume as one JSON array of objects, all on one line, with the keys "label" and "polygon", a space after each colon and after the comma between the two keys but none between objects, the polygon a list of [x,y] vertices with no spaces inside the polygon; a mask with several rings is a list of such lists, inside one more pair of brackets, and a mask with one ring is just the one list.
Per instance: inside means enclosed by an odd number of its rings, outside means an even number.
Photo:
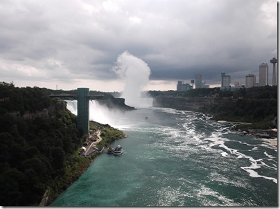
[{"label": "grey cloudy sky above the skyline and around the mist plume", "polygon": [[[277,57],[275,0],[1,0],[0,82],[123,91],[128,51],[150,68],[143,90],[175,90],[196,74],[210,87],[245,84]],[[140,72],[141,73],[141,72]]]}]

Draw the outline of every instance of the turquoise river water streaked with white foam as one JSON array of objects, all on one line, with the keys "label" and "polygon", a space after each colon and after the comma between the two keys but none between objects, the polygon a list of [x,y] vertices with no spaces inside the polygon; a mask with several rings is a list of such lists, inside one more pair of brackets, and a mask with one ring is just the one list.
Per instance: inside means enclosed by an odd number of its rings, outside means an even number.
[{"label": "turquoise river water streaked with white foam", "polygon": [[128,135],[113,143],[122,156],[98,156],[51,206],[278,204],[277,147],[230,131],[229,122],[160,108],[101,118]]}]

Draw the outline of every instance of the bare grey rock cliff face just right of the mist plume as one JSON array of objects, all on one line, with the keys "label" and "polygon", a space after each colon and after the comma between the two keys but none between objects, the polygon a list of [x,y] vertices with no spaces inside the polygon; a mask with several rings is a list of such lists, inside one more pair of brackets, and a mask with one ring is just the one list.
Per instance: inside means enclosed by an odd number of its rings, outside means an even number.
[{"label": "bare grey rock cliff face just right of the mist plume", "polygon": [[166,107],[178,110],[201,111],[216,102],[214,98],[183,98],[158,96],[153,100],[153,107]]}]

